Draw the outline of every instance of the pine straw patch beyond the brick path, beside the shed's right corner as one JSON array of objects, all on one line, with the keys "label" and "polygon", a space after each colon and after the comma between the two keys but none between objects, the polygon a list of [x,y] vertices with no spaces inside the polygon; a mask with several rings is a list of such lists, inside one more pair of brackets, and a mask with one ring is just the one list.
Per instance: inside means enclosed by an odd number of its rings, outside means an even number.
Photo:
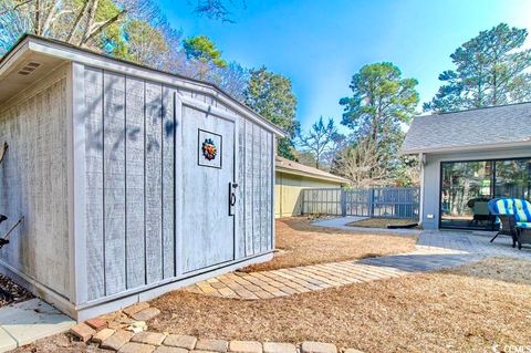
[{"label": "pine straw patch beyond the brick path, beside the shed's right corner", "polygon": [[275,227],[275,246],[280,251],[273,260],[241,271],[268,271],[407,252],[414,250],[417,240],[414,235],[372,235],[315,227],[303,217],[278,219]]}]

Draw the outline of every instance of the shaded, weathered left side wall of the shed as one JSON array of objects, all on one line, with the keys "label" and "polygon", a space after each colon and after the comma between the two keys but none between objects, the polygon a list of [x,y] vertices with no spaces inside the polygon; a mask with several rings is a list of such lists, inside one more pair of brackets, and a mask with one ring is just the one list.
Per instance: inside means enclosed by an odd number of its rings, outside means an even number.
[{"label": "shaded, weathered left side wall of the shed", "polygon": [[69,69],[0,106],[0,144],[9,144],[0,165],[0,214],[19,217],[0,260],[71,299],[67,185]]}]

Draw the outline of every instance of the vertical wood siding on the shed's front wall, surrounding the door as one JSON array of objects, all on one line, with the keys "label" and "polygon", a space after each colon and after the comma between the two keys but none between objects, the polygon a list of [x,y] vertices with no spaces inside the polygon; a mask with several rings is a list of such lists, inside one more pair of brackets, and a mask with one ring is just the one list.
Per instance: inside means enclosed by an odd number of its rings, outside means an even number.
[{"label": "vertical wood siding on the shed's front wall, surrounding the door", "polygon": [[271,250],[272,133],[195,91],[88,66],[82,80],[88,301],[184,276],[187,205],[177,186],[181,158],[197,156],[178,155],[187,110],[174,94],[233,115],[235,260]]}]

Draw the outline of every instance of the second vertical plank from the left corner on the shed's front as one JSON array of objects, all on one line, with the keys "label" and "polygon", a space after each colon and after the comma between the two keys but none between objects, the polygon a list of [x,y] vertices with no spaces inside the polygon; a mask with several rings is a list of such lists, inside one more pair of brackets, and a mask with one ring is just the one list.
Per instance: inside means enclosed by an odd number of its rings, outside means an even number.
[{"label": "second vertical plank from the left corner on the shed's front", "polygon": [[125,264],[125,76],[104,72],[105,294],[126,289]]}]

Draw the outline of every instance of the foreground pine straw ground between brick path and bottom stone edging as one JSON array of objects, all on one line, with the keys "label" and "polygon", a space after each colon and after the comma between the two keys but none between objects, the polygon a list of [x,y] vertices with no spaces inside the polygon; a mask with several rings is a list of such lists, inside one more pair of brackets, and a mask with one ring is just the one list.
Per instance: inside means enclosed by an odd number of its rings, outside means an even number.
[{"label": "foreground pine straw ground between brick path and bottom stone edging", "polygon": [[488,259],[288,298],[242,301],[176,291],[152,302],[162,332],[314,340],[365,352],[491,352],[531,345],[530,261]]}]

